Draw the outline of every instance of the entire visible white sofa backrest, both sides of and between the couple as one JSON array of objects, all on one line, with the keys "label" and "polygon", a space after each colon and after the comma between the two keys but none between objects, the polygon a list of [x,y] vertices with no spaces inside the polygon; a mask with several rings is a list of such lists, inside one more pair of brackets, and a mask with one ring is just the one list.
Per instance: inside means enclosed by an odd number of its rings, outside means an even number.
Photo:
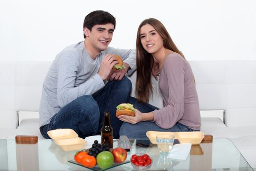
[{"label": "entire visible white sofa backrest, both sides of and between the couple", "polygon": [[[38,111],[42,83],[52,62],[0,63],[0,115]],[[226,110],[229,127],[256,125],[256,61],[189,61],[201,110]],[[135,96],[136,73],[128,78]],[[150,104],[162,107],[158,82]],[[253,118],[253,119],[251,119]]]}]

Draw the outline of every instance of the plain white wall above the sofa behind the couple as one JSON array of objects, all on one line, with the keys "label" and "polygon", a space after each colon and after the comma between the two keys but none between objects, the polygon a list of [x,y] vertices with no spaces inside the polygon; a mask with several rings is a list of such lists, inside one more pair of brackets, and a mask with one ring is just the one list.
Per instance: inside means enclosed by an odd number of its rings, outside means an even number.
[{"label": "plain white wall above the sofa behind the couple", "polygon": [[54,60],[94,10],[116,17],[113,47],[135,48],[153,17],[188,60],[256,60],[256,0],[0,0],[0,61]]}]

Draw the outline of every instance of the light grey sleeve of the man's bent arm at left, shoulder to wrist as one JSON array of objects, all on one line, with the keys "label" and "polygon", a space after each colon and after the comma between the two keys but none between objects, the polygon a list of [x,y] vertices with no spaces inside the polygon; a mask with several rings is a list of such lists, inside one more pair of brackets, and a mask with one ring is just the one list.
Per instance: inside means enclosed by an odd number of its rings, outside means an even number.
[{"label": "light grey sleeve of the man's bent arm at left, shoulder to wrist", "polygon": [[81,67],[78,56],[76,52],[68,51],[59,57],[57,98],[60,107],[64,107],[82,95],[91,95],[105,85],[97,73],[92,77],[87,76],[86,80],[80,80],[80,83],[77,83],[79,85],[75,85]]}]

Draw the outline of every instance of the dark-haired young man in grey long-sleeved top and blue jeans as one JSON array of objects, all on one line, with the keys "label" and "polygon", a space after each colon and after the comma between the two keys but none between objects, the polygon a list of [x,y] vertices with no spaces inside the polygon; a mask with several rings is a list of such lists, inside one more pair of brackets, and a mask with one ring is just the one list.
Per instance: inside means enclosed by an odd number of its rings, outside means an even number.
[{"label": "dark-haired young man in grey long-sleeved top and blue jeans", "polygon": [[[39,128],[45,138],[48,130],[72,128],[79,137],[96,135],[103,125],[103,113],[111,114],[114,138],[122,121],[116,107],[127,103],[131,82],[124,75],[136,69],[136,51],[108,47],[116,19],[105,11],[93,11],[83,23],[84,41],[63,49],[43,82],[39,107]],[[117,54],[125,69],[113,70]],[[108,83],[106,83],[109,81]]]}]

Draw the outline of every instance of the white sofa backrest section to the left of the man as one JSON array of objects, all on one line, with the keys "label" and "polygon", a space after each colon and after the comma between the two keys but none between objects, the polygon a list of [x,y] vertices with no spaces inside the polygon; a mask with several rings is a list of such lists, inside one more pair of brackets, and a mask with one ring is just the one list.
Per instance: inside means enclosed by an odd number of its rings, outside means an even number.
[{"label": "white sofa backrest section to the left of the man", "polygon": [[0,110],[38,111],[42,83],[51,62],[0,64]]}]

